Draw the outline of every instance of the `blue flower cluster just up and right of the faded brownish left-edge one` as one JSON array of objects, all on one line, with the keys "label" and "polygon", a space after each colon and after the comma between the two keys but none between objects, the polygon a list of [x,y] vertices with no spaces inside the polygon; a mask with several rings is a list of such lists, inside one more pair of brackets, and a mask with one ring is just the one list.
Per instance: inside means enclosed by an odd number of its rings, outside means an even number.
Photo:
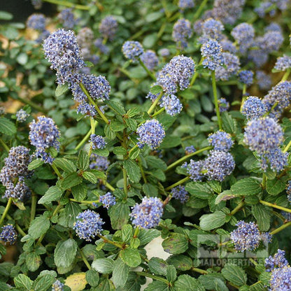
[{"label": "blue flower cluster just up and right of the faded brownish left-edge one", "polygon": [[29,141],[36,147],[36,157],[41,157],[43,162],[52,163],[53,157],[48,152],[49,148],[59,150],[59,129],[52,118],[39,116],[38,121],[34,120],[29,125]]}]

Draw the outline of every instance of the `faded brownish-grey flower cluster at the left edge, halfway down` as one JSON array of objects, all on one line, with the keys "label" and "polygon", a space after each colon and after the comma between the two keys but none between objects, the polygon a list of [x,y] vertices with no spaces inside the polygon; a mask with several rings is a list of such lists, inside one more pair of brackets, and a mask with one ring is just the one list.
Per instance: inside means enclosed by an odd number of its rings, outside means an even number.
[{"label": "faded brownish-grey flower cluster at the left edge, halfway down", "polygon": [[8,157],[4,159],[4,166],[0,172],[0,180],[6,186],[4,197],[23,201],[31,195],[24,179],[31,176],[28,165],[31,162],[29,149],[24,146],[10,148]]}]

